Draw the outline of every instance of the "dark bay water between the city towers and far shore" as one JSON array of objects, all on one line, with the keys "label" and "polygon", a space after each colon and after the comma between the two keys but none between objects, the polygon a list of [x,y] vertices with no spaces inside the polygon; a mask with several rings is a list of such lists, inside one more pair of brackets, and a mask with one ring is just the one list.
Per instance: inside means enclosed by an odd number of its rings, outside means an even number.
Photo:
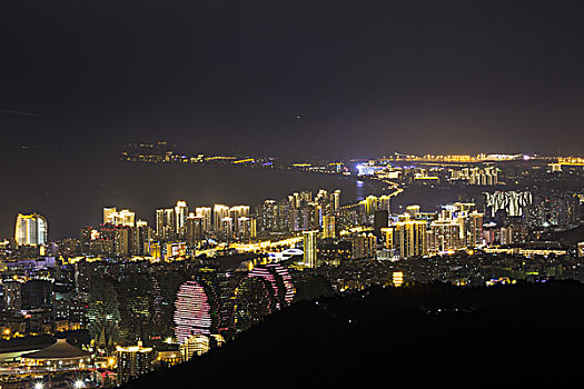
[{"label": "dark bay water between the city towers and far shore", "polygon": [[256,206],[294,191],[342,190],[342,203],[389,192],[356,177],[210,164],[147,164],[111,150],[20,149],[0,154],[0,238],[13,236],[18,212],[47,217],[49,239],[79,237],[101,222],[102,208],[129,208],[154,225],[157,208],[186,200],[189,208]]}]

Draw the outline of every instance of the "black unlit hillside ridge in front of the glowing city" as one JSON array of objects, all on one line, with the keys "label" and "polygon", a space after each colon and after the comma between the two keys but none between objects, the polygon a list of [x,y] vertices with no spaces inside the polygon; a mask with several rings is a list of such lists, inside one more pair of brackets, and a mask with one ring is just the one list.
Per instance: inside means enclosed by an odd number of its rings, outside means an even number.
[{"label": "black unlit hillside ridge in front of the glowing city", "polygon": [[133,388],[581,380],[584,286],[423,285],[301,302]]}]

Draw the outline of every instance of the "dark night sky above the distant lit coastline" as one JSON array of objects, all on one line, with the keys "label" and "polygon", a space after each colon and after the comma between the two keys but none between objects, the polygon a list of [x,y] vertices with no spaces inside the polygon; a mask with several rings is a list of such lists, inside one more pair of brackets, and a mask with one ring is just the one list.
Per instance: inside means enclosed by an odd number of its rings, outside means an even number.
[{"label": "dark night sky above the distant lit coastline", "polygon": [[2,141],[578,152],[583,11],[582,1],[3,1]]}]

